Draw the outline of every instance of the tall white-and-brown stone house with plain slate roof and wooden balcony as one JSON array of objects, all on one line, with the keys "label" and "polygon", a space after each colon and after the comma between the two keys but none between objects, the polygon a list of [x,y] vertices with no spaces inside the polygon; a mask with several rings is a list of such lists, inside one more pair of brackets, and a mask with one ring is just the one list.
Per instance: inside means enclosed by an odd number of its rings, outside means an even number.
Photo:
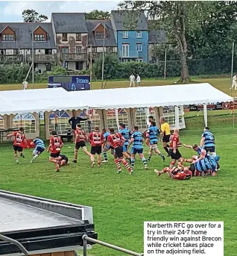
[{"label": "tall white-and-brown stone house with plain slate roof and wooden balcony", "polygon": [[66,69],[86,69],[88,64],[88,29],[84,13],[52,13],[51,25]]}]

